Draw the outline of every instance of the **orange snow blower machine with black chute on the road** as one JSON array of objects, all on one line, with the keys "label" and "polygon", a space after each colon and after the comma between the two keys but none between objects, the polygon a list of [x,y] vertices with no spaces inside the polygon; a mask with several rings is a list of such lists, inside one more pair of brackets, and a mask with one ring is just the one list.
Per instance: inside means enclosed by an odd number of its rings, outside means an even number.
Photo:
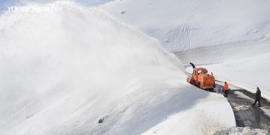
[{"label": "orange snow blower machine with black chute on the road", "polygon": [[194,64],[190,64],[193,67],[193,73],[191,74],[190,79],[187,77],[187,82],[201,89],[214,90],[216,85],[213,74],[209,75],[207,74],[208,71],[205,68],[196,68]]}]

